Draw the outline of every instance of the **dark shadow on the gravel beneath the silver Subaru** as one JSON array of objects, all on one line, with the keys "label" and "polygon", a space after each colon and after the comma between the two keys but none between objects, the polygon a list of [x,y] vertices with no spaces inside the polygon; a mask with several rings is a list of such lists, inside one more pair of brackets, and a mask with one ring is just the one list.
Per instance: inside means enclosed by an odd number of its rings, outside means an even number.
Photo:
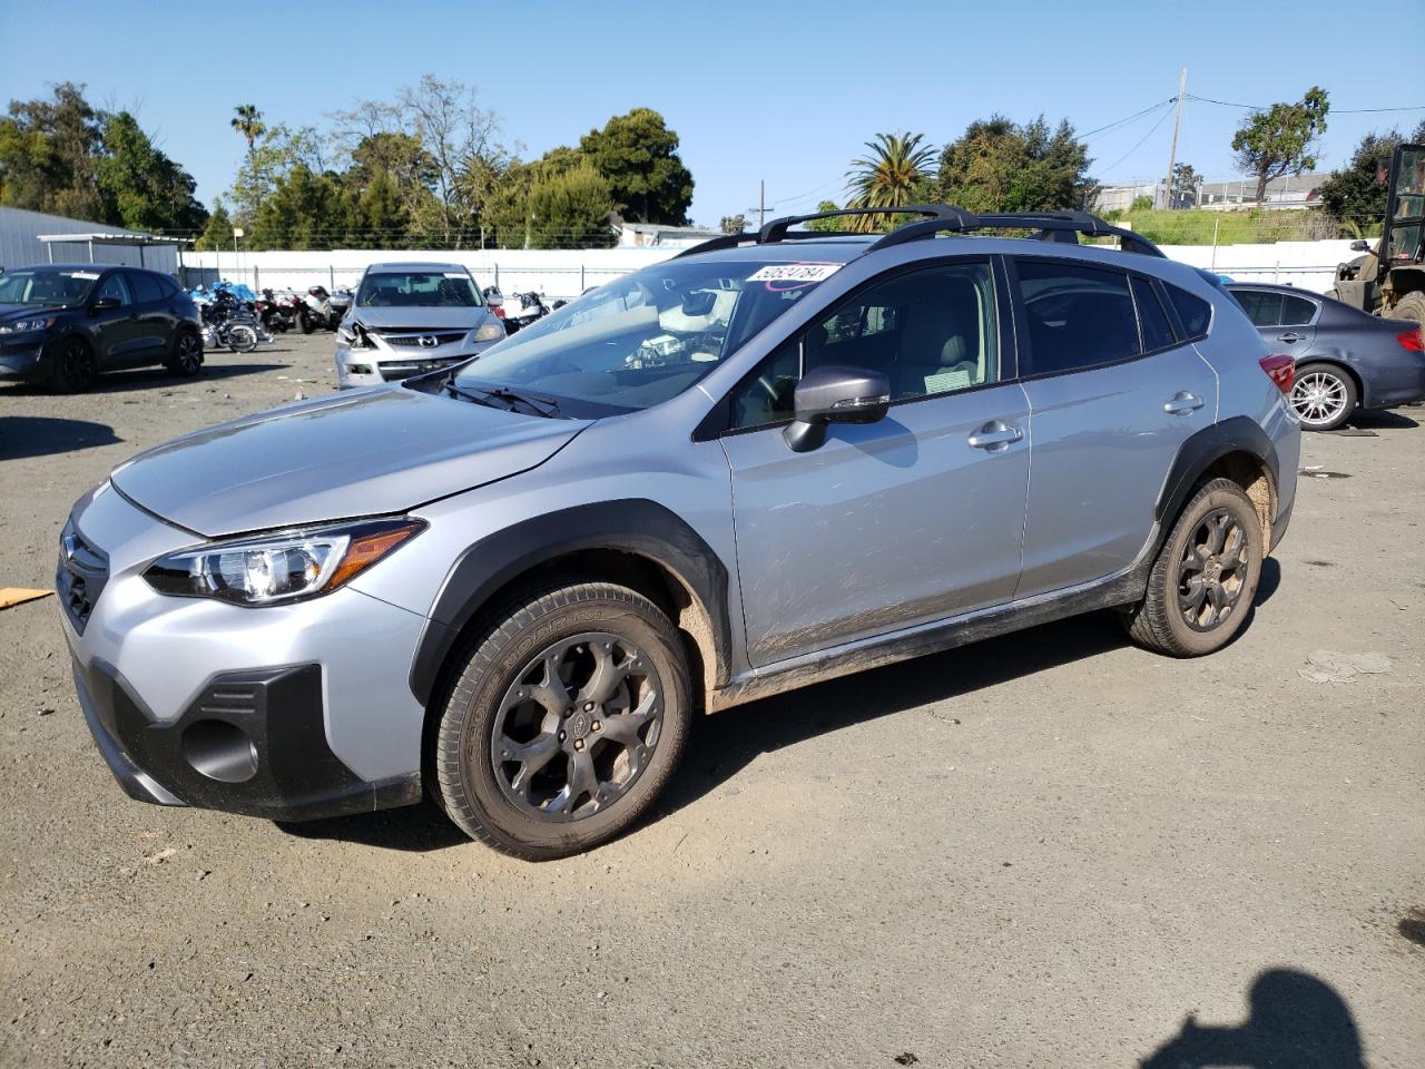
[{"label": "dark shadow on the gravel beneath the silver Subaru", "polygon": [[[1268,557],[1263,564],[1253,609],[1267,601],[1280,583],[1281,567],[1275,559]],[[1251,616],[1243,631],[1248,627]],[[648,817],[636,824],[634,830],[691,805],[735,777],[761,754],[852,724],[943,703],[1037,671],[1097,657],[1121,649],[1127,641],[1113,611],[1089,613],[844,676],[737,706],[711,717],[697,717],[683,765],[673,774]],[[298,838],[339,840],[418,852],[470,841],[430,800],[419,807],[301,824],[279,822],[278,827]]]}]

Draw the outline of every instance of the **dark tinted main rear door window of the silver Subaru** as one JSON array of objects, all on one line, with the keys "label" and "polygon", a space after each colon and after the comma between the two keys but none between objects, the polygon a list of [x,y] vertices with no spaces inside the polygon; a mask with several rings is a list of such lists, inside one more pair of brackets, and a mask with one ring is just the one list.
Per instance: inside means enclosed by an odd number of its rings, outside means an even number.
[{"label": "dark tinted main rear door window of the silver Subaru", "polygon": [[1030,373],[1054,375],[1137,356],[1139,322],[1129,277],[1063,261],[1017,261],[1029,321]]}]

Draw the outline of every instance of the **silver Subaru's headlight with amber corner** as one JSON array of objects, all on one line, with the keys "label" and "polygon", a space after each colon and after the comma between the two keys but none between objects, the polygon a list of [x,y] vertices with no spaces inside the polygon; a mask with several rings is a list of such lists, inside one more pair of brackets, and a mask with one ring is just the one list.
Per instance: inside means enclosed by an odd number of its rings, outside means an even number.
[{"label": "silver Subaru's headlight with amber corner", "polygon": [[400,516],[214,542],[155,560],[144,579],[178,597],[295,601],[335,590],[425,527],[425,520]]}]

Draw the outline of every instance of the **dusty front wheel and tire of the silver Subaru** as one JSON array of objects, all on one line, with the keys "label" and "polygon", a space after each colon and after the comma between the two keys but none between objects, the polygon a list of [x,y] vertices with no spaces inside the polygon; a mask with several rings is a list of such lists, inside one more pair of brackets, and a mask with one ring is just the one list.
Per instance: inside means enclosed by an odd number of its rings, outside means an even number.
[{"label": "dusty front wheel and tire of the silver Subaru", "polygon": [[690,721],[687,661],[657,606],[611,583],[534,589],[469,649],[443,701],[439,801],[514,857],[579,854],[648,808]]}]

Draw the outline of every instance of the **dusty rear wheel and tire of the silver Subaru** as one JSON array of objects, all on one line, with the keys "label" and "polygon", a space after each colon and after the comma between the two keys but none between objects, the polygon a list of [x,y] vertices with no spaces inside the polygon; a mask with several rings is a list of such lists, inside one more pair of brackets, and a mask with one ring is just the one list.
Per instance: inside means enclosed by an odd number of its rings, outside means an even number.
[{"label": "dusty rear wheel and tire of the silver Subaru", "polygon": [[1159,550],[1147,592],[1126,620],[1129,636],[1170,657],[1216,653],[1247,621],[1261,562],[1261,519],[1251,500],[1230,479],[1213,479]]}]

